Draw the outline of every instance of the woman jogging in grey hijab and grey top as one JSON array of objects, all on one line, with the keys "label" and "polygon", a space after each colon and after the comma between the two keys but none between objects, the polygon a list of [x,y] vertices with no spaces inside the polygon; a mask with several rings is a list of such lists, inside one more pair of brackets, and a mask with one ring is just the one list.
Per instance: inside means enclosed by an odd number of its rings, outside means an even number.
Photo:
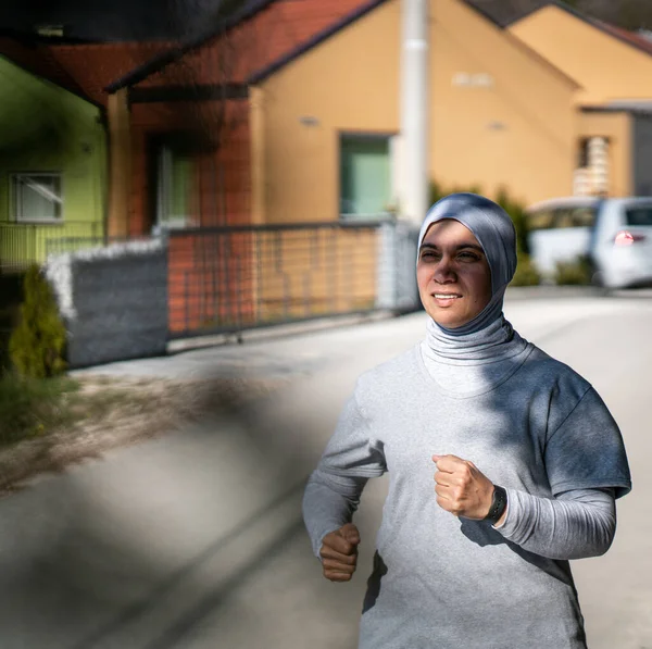
[{"label": "woman jogging in grey hijab and grey top", "polygon": [[309,480],[314,552],[346,582],[362,489],[389,471],[361,648],[586,647],[568,560],[609,549],[629,469],[595,390],[505,321],[515,269],[499,205],[457,194],[430,209],[426,338],[359,378]]}]

